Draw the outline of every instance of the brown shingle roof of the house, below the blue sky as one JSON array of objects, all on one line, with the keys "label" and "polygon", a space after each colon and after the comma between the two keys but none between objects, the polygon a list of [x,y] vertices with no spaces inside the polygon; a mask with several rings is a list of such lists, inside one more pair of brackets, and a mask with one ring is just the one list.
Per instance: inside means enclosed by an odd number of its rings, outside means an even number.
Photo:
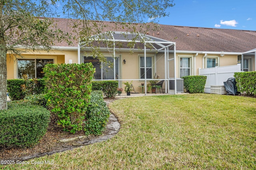
[{"label": "brown shingle roof of the house, below the blue sky", "polygon": [[[64,32],[72,32],[69,27],[72,21],[63,18],[55,18],[58,28]],[[114,23],[106,22],[114,29]],[[224,51],[242,53],[256,48],[256,31],[237,29],[216,29],[203,27],[187,27],[174,25],[161,25],[159,31],[148,31],[145,34],[176,42],[176,50],[180,51]],[[124,29],[104,31],[124,31]],[[110,30],[111,29],[111,30]],[[57,43],[56,46],[77,46],[77,41],[72,45]]]}]

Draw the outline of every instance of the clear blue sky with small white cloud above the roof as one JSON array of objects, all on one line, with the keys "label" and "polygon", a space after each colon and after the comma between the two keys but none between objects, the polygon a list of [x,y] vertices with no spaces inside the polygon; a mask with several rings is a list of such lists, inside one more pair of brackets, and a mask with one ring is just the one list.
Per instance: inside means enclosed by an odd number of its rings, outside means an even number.
[{"label": "clear blue sky with small white cloud above the roof", "polygon": [[256,0],[174,0],[165,25],[256,31]]}]

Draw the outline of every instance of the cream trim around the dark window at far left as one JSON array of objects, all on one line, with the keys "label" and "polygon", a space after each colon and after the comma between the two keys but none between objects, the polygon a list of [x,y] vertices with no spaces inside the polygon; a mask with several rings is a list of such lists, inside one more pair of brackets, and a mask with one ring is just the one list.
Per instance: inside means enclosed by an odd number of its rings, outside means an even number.
[{"label": "cream trim around the dark window at far left", "polygon": [[57,64],[57,56],[17,56],[16,60],[14,60],[14,78],[18,79],[18,59],[28,59],[28,60],[36,60],[36,59],[52,59],[54,64]]}]

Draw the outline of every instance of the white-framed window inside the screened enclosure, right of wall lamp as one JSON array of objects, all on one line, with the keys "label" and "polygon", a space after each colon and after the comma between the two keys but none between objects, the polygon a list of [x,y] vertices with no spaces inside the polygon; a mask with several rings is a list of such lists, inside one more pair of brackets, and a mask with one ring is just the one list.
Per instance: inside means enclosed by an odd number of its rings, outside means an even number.
[{"label": "white-framed window inside the screened enclosure, right of wall lamp", "polygon": [[[140,57],[140,79],[145,78],[145,62],[144,56]],[[153,57],[146,57],[146,78],[152,79],[152,59]]]}]

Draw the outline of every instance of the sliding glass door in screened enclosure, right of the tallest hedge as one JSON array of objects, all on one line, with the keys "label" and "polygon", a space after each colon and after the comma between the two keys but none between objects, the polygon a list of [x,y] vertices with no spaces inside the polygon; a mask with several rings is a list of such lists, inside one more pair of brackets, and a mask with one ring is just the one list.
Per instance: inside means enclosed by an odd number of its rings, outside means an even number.
[{"label": "sliding glass door in screened enclosure, right of the tallest hedge", "polygon": [[[114,59],[112,57],[106,57],[107,63],[102,63],[98,59],[93,57],[84,56],[84,63],[92,63],[95,68],[94,78],[96,80],[114,80]],[[119,71],[119,57],[116,57],[116,79],[118,79],[118,71]]]}]

